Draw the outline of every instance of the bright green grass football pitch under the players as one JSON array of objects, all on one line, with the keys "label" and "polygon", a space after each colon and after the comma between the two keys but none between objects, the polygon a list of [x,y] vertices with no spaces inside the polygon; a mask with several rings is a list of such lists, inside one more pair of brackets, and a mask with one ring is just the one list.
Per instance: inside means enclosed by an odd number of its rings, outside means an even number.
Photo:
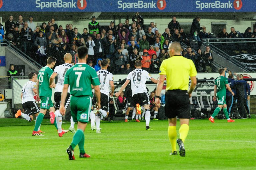
[{"label": "bright green grass football pitch under the players", "polygon": [[[16,170],[171,170],[171,169],[255,169],[256,119],[239,119],[234,123],[218,120],[191,120],[185,141],[186,157],[170,156],[168,121],[123,121],[101,123],[101,134],[85,130],[85,151],[91,158],[68,160],[66,153],[73,133],[58,137],[54,125],[44,119],[45,136],[31,136],[35,122],[23,119],[0,119],[0,169]],[[77,124],[76,124],[77,125]],[[75,125],[75,128],[76,128]],[[69,122],[63,123],[68,129]],[[179,129],[177,122],[177,132]],[[179,134],[178,134],[179,136]],[[178,145],[177,145],[178,149]]]}]

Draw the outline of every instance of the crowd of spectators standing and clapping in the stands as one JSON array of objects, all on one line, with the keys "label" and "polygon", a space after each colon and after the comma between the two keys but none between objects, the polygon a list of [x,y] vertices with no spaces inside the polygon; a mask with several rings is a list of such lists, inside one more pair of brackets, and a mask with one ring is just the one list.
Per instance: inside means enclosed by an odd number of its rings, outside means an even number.
[{"label": "crowd of spectators standing and clapping in the stands", "polygon": [[[201,27],[199,22],[200,17],[193,19],[190,33],[186,34],[176,17],[172,17],[165,32],[161,34],[156,23],[144,25],[144,19],[138,12],[133,16],[132,22],[126,19],[125,23],[115,25],[111,21],[107,27],[101,27],[96,17],[92,16],[88,27],[83,30],[73,28],[72,24],[58,26],[54,18],[48,23],[43,22],[41,26],[36,26],[32,15],[28,21],[24,21],[23,16],[19,15],[16,22],[10,15],[4,26],[0,24],[0,39],[7,40],[41,65],[45,65],[49,56],[55,57],[57,65],[60,65],[65,53],[70,53],[72,62],[77,63],[77,48],[87,46],[88,64],[97,71],[100,69],[100,61],[107,59],[108,69],[114,74],[129,73],[134,69],[137,59],[142,61],[143,69],[158,73],[161,62],[169,57],[169,44],[177,41],[188,46],[183,48],[181,55],[193,60],[198,72],[211,72],[213,55],[210,47],[207,46],[204,52],[200,49],[201,40],[209,38],[210,32],[207,33],[206,27]],[[255,36],[256,28],[252,32],[250,27],[243,35],[235,31],[234,27],[231,27],[230,34],[223,28],[218,35],[219,38]],[[198,49],[194,48],[195,52],[189,46],[191,39],[198,43]]]}]

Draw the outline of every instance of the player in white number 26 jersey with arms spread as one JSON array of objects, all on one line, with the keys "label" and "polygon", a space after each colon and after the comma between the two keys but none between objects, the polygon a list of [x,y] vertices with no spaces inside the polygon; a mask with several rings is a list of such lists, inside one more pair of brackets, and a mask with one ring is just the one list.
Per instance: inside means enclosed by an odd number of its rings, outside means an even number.
[{"label": "player in white number 26 jersey with arms spread", "polygon": [[[157,83],[158,81],[154,79],[146,70],[141,69],[141,61],[136,60],[135,61],[135,68],[132,72],[130,72],[126,78],[125,83],[122,85],[120,90],[115,93],[115,95],[118,97],[120,93],[125,89],[125,87],[131,82],[131,88],[132,88],[132,97],[135,103],[138,103],[139,105],[143,106],[146,111],[146,130],[152,130],[149,127],[150,122],[150,108],[149,108],[149,95],[146,89],[146,81],[147,79],[150,79],[152,82]],[[137,105],[138,105],[137,104]],[[138,108],[138,106],[137,106]],[[139,114],[141,114],[138,111]]]}]

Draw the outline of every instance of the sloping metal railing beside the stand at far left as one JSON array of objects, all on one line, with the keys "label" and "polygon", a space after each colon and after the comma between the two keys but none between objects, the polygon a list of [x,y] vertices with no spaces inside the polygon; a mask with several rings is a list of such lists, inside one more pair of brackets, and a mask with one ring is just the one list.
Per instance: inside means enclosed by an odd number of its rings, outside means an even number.
[{"label": "sloping metal railing beside the stand at far left", "polygon": [[25,54],[23,51],[21,51],[20,49],[18,49],[16,46],[14,46],[12,43],[9,43],[7,40],[1,40],[0,41],[1,46],[6,45],[7,47],[9,47],[10,49],[12,49],[15,53],[19,54],[20,56],[22,56],[24,59],[26,59],[28,62],[32,62],[35,63],[36,67],[38,67],[39,69],[42,68],[42,66],[37,63],[35,60],[33,60],[31,57],[29,57],[27,54]]}]

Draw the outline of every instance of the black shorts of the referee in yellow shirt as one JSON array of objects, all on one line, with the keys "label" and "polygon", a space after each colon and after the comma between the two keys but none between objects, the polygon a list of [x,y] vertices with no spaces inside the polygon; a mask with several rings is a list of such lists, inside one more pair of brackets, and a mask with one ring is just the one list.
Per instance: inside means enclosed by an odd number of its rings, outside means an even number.
[{"label": "black shorts of the referee in yellow shirt", "polygon": [[169,119],[176,116],[181,119],[190,119],[190,102],[188,91],[168,90],[165,94],[165,115]]}]

